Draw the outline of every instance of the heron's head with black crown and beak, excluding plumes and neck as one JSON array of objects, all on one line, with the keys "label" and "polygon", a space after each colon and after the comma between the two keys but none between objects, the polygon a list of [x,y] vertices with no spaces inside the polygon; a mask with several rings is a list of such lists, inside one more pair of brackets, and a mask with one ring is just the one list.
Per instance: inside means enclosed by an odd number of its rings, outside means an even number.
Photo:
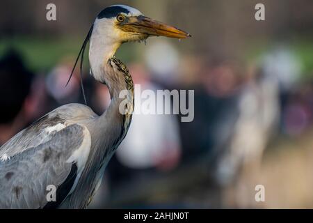
[{"label": "heron's head with black crown and beak, excluding plumes and neck", "polygon": [[125,43],[145,40],[149,36],[187,38],[190,34],[173,26],[168,26],[149,17],[135,8],[123,5],[110,6],[102,10],[94,24],[95,31],[101,33],[111,43]]}]

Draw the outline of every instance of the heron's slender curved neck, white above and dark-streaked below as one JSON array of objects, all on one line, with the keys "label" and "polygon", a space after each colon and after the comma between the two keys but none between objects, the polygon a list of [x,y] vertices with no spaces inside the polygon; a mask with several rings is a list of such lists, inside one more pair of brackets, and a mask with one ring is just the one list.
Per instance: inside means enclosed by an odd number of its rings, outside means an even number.
[{"label": "heron's slender curved neck, white above and dark-streaked below", "polygon": [[[97,37],[90,38],[89,61],[92,75],[97,81],[106,84],[111,96],[111,104],[100,117],[103,123],[121,121],[128,128],[134,108],[134,84],[127,67],[113,56],[120,44]],[[127,112],[121,111],[125,108]],[[125,118],[126,117],[126,118]]]}]

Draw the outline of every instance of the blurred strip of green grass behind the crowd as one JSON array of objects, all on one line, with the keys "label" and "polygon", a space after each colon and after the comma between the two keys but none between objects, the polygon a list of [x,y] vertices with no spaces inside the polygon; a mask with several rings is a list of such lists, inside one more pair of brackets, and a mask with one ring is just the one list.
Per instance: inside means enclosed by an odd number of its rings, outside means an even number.
[{"label": "blurred strip of green grass behind the crowd", "polygon": [[[83,37],[83,36],[82,36]],[[83,38],[64,37],[64,38],[42,38],[35,36],[19,36],[11,39],[0,40],[0,56],[6,52],[9,47],[15,47],[24,56],[26,65],[35,72],[47,72],[55,66],[64,56],[71,56],[76,59],[79,53]],[[118,51],[118,57],[129,63],[134,61],[138,52],[137,45],[123,45]],[[250,63],[259,59],[271,47],[266,42],[249,43],[246,49],[243,49],[243,60]],[[302,63],[302,74],[305,79],[313,79],[313,43],[305,38],[298,38],[291,44],[298,59]],[[49,52],[49,53],[48,53]],[[84,67],[88,70],[88,53],[85,54]]]}]

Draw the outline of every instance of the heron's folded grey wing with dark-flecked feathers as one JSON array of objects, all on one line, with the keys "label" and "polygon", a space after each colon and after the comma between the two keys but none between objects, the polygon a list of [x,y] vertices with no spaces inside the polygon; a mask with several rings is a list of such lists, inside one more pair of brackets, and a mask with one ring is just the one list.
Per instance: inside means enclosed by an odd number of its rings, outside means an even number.
[{"label": "heron's folded grey wing with dark-flecked feathers", "polygon": [[70,125],[49,141],[0,161],[0,208],[44,207],[47,185],[58,187],[65,181],[72,167],[66,161],[83,137],[81,125]]}]

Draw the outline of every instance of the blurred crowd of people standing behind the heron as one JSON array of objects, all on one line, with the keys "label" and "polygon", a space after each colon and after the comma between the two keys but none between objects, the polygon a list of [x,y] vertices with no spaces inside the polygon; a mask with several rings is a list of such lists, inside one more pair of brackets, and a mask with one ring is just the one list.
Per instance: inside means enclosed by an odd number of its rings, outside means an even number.
[{"label": "blurred crowd of people standing behind the heron", "polygon": [[[127,65],[134,84],[152,91],[195,90],[194,121],[182,123],[180,115],[134,114],[93,207],[105,207],[111,190],[128,190],[131,183],[147,183],[203,160],[207,181],[227,187],[239,173],[258,171],[270,141],[298,137],[312,128],[313,83],[301,79],[301,61],[288,45],[276,45],[250,63],[182,56],[169,43],[153,43],[146,51],[145,63]],[[79,70],[65,87],[72,66],[73,56],[68,55],[49,72],[34,73],[18,49],[6,50],[0,59],[0,145],[52,109],[84,103]],[[83,85],[87,105],[102,114],[110,103],[106,86],[87,73]]]}]

